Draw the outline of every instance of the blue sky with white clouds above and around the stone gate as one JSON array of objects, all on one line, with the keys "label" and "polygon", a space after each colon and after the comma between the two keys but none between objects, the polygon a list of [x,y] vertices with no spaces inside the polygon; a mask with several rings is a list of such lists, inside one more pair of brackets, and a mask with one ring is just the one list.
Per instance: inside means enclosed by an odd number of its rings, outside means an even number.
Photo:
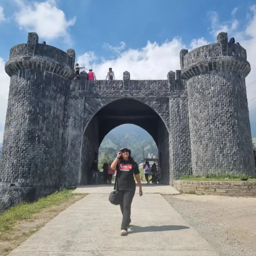
[{"label": "blue sky with white clouds above and around the stone gate", "polygon": [[[179,69],[179,52],[216,41],[228,32],[247,49],[256,80],[256,6],[238,0],[1,0],[0,2],[0,142],[4,129],[9,77],[4,72],[12,46],[27,41],[27,32],[60,49],[73,48],[76,61],[104,79],[112,66],[117,79],[128,70],[132,79],[166,79]],[[256,82],[247,98],[256,96]],[[256,99],[249,102],[256,137]]]}]

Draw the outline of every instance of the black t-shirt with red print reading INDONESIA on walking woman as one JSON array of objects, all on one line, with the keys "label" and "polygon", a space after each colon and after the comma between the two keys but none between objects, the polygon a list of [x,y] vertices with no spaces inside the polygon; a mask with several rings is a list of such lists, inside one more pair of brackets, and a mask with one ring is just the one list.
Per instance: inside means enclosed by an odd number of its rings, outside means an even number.
[{"label": "black t-shirt with red print reading INDONESIA on walking woman", "polygon": [[139,167],[135,162],[122,161],[117,164],[117,178],[119,190],[133,190],[136,187],[134,176],[139,174]]}]

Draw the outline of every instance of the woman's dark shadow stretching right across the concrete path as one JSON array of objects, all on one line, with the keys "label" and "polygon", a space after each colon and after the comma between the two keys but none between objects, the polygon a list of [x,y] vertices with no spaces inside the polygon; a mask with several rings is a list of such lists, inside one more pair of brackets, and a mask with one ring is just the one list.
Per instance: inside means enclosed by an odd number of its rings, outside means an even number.
[{"label": "woman's dark shadow stretching right across the concrete path", "polygon": [[135,226],[130,225],[131,231],[129,234],[133,233],[142,233],[142,232],[161,232],[161,231],[172,231],[172,230],[180,230],[180,229],[189,229],[187,226],[177,226],[177,225],[164,225],[164,226]]}]

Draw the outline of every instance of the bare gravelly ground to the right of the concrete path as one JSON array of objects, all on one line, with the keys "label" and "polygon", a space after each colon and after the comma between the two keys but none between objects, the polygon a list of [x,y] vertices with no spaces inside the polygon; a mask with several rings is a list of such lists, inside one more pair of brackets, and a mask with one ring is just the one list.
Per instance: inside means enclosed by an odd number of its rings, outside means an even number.
[{"label": "bare gravelly ground to the right of the concrete path", "polygon": [[256,255],[256,198],[165,195],[220,256]]}]

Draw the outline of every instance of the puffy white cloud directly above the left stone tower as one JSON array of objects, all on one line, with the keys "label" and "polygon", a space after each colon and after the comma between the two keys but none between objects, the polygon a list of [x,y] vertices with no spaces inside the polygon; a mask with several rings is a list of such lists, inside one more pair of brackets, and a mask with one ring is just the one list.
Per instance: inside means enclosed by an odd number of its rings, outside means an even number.
[{"label": "puffy white cloud directly above the left stone tower", "polygon": [[21,29],[36,31],[44,40],[63,37],[66,43],[71,43],[69,27],[75,24],[76,17],[67,20],[55,0],[30,4],[25,4],[23,0],[15,0],[15,2],[20,7],[15,19]]}]

